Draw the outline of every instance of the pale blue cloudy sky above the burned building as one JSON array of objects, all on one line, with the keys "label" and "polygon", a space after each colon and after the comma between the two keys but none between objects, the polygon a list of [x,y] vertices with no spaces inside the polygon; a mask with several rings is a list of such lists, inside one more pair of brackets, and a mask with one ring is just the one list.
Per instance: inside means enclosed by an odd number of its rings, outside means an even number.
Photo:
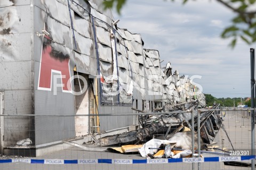
[{"label": "pale blue cloudy sky above the burned building", "polygon": [[214,97],[249,97],[250,47],[220,38],[222,30],[235,16],[215,1],[128,0],[122,14],[114,12],[119,28],[140,33],[144,48],[157,49],[162,66],[171,62],[182,75],[201,75],[194,79],[205,94]]}]

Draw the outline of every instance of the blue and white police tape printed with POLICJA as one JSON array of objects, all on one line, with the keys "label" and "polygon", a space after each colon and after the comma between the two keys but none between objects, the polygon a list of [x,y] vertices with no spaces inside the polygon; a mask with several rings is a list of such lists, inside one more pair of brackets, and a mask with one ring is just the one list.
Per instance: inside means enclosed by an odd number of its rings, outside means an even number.
[{"label": "blue and white police tape printed with POLICJA", "polygon": [[167,163],[204,163],[229,162],[256,159],[255,155],[238,157],[193,157],[169,159],[0,159],[1,163],[28,164],[167,164]]}]

